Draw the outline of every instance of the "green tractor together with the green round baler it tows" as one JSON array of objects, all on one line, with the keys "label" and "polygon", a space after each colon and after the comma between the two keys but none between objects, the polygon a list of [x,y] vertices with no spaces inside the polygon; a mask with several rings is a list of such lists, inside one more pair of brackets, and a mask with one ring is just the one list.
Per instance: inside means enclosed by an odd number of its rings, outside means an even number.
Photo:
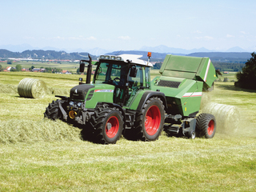
[{"label": "green tractor together with the green round baler it tows", "polygon": [[210,58],[167,54],[159,75],[150,81],[151,53],[101,55],[80,61],[86,83],[70,90],[46,107],[46,118],[58,119],[82,129],[82,137],[95,143],[116,143],[121,135],[134,141],[154,141],[162,130],[169,136],[213,138],[212,114],[198,114],[202,91],[212,89],[218,71]]}]

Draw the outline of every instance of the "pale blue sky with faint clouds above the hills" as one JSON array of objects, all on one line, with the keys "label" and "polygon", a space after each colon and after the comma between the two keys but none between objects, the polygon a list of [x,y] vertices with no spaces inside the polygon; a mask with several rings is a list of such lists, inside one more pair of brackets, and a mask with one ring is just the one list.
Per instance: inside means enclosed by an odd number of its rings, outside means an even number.
[{"label": "pale blue sky with faint clouds above the hills", "polygon": [[0,46],[256,50],[256,1],[0,0],[0,5]]}]

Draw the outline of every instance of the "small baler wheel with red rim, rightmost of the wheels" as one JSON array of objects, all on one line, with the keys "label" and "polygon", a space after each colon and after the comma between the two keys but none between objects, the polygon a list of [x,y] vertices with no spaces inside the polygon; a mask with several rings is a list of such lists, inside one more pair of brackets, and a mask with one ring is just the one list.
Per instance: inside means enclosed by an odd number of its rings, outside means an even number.
[{"label": "small baler wheel with red rim, rightmost of the wheels", "polygon": [[201,138],[214,138],[216,120],[212,114],[199,114],[197,118],[196,133]]}]

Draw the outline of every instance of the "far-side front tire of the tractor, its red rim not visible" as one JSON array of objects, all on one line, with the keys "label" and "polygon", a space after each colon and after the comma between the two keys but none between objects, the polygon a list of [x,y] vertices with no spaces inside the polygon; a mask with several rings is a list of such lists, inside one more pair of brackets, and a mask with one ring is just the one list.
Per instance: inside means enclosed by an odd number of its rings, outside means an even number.
[{"label": "far-side front tire of the tractor, its red rim not visible", "polygon": [[[58,99],[49,103],[49,106],[46,107],[46,112],[44,113],[45,118],[50,118],[52,120],[56,120],[58,118],[62,118],[61,111],[58,107]],[[62,102],[62,100],[60,100]],[[63,103],[63,102],[62,102]]]}]

